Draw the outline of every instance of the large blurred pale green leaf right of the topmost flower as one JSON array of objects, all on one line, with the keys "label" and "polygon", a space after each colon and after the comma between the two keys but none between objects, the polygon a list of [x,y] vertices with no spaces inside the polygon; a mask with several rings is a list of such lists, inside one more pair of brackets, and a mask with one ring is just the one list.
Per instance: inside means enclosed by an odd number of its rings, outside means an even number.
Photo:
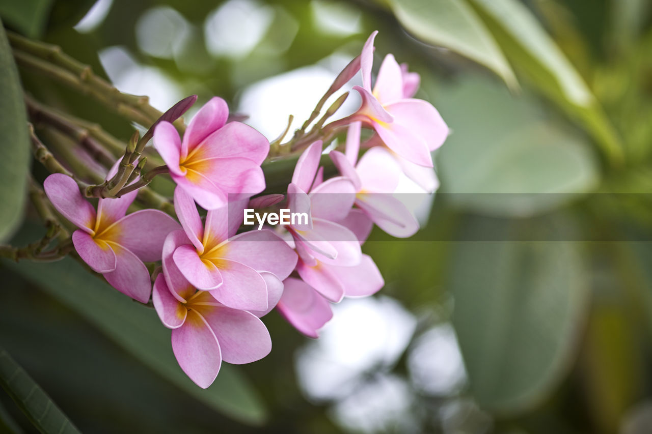
[{"label": "large blurred pale green leaf right of the topmost flower", "polygon": [[442,89],[437,107],[452,130],[436,155],[441,192],[465,209],[528,216],[597,186],[587,143],[546,121],[531,98],[464,80]]}]

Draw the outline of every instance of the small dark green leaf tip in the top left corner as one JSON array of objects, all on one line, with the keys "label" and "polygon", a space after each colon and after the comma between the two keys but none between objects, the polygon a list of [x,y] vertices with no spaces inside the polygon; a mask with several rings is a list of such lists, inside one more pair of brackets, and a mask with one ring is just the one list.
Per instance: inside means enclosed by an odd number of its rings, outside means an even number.
[{"label": "small dark green leaf tip in the top left corner", "polygon": [[52,1],[2,1],[0,2],[0,17],[30,38],[38,38],[48,23]]}]

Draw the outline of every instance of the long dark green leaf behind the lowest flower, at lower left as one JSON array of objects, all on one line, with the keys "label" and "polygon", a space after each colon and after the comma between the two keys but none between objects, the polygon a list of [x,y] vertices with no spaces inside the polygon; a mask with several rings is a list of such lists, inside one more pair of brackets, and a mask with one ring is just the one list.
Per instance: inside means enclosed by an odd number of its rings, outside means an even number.
[{"label": "long dark green leaf behind the lowest flower, at lower left", "polygon": [[192,383],[179,368],[171,350],[170,330],[160,323],[156,312],[91,276],[71,258],[57,263],[23,261],[6,263],[6,266],[78,311],[143,364],[190,396],[244,424],[259,425],[267,418],[261,399],[231,365],[222,364],[215,383],[205,390]]}]

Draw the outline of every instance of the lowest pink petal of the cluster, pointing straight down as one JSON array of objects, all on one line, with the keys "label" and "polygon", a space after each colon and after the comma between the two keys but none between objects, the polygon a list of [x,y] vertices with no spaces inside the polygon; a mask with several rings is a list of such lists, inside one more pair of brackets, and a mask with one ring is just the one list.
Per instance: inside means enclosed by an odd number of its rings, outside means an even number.
[{"label": "lowest pink petal of the cluster, pointing straight down", "polygon": [[195,384],[205,389],[215,381],[222,365],[220,344],[197,311],[189,311],[183,326],[172,330],[172,351]]}]

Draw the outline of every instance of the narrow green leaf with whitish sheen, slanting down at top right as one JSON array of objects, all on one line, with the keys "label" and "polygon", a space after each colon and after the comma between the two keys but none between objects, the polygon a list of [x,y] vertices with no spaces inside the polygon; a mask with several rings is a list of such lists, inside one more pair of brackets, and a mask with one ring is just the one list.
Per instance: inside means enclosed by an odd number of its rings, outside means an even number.
[{"label": "narrow green leaf with whitish sheen, slanting down at top right", "polygon": [[516,0],[469,0],[512,65],[577,117],[614,163],[623,148],[577,70],[531,12]]}]

